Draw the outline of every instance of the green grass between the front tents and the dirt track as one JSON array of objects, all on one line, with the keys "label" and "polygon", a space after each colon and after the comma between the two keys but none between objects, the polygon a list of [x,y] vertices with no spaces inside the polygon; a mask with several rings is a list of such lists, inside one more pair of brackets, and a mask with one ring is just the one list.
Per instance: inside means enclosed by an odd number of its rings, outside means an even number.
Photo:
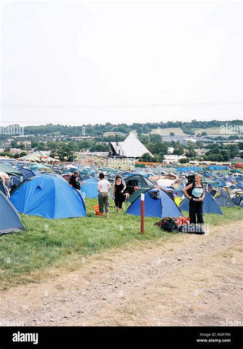
[{"label": "green grass between the front tents and the dirt track", "polygon": [[[0,289],[39,282],[50,269],[75,270],[87,256],[111,247],[130,248],[134,243],[144,244],[158,238],[166,241],[179,235],[153,226],[159,218],[145,218],[143,236],[139,233],[140,217],[125,214],[125,207],[120,214],[111,208],[110,219],[102,219],[93,213],[96,199],[86,199],[85,204],[86,218],[52,220],[22,215],[28,230],[0,237]],[[228,208],[223,209],[224,216],[205,215],[205,223],[234,222],[241,218],[240,210]]]}]

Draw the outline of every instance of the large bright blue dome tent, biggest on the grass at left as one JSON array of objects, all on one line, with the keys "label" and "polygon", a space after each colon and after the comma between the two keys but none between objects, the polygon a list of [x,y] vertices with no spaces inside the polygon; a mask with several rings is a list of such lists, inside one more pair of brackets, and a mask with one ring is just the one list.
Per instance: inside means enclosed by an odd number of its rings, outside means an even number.
[{"label": "large bright blue dome tent, biggest on the grass at left", "polygon": [[20,183],[10,201],[18,212],[45,218],[85,217],[82,196],[66,181],[53,176],[35,176]]}]

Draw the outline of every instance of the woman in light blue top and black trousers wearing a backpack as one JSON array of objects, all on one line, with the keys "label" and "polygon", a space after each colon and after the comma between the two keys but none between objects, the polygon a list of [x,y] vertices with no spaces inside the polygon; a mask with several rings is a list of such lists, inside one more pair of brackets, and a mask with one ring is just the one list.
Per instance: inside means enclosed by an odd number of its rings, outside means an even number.
[{"label": "woman in light blue top and black trousers wearing a backpack", "polygon": [[[191,195],[188,194],[191,192]],[[202,217],[202,204],[205,197],[205,189],[202,184],[202,177],[199,174],[195,175],[195,181],[183,189],[184,194],[189,198],[189,218],[190,224],[204,224]],[[203,228],[203,226],[202,226]]]}]

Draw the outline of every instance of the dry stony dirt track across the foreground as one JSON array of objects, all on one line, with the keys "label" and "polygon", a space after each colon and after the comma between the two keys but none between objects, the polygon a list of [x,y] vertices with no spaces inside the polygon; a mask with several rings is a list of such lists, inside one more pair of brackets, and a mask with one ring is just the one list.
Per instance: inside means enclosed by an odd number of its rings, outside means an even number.
[{"label": "dry stony dirt track across the foreground", "polygon": [[75,272],[3,292],[0,318],[25,326],[242,321],[242,226],[92,256]]}]

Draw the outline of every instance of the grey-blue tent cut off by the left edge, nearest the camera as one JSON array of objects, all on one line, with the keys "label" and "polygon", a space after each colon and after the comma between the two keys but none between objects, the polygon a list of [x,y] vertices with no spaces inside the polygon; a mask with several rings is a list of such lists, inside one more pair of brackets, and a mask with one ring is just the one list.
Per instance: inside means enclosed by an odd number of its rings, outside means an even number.
[{"label": "grey-blue tent cut off by the left edge, nearest the camera", "polygon": [[0,235],[25,231],[18,212],[2,192],[0,192],[0,207]]}]

